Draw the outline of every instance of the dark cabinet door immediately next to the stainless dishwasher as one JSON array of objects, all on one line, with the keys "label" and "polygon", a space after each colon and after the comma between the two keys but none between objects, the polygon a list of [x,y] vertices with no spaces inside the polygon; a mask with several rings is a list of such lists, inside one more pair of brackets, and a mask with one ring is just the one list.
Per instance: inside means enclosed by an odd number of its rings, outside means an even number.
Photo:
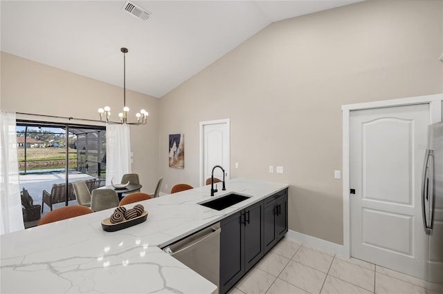
[{"label": "dark cabinet door immediately next to the stainless dishwasher", "polygon": [[220,222],[220,285],[219,293],[226,293],[244,275],[244,224],[242,212]]}]

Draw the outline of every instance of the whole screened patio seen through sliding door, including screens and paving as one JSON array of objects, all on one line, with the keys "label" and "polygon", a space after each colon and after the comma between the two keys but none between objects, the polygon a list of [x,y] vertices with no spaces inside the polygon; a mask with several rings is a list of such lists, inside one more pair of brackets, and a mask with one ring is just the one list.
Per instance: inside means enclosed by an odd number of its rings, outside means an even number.
[{"label": "whole screened patio seen through sliding door, including screens and paving", "polygon": [[[43,216],[51,207],[77,204],[73,182],[93,181],[94,188],[105,185],[106,128],[17,121],[17,155],[20,189],[28,190]],[[54,184],[64,184],[62,202],[48,200]],[[26,227],[35,224],[25,222]]]}]

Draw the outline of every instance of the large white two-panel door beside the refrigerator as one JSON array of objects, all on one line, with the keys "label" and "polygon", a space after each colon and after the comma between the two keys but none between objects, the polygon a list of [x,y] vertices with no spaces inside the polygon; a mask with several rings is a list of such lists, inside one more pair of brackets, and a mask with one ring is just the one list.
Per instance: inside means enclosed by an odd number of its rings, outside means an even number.
[{"label": "large white two-panel door beside the refrigerator", "polygon": [[429,104],[350,112],[351,255],[420,278],[428,124]]}]

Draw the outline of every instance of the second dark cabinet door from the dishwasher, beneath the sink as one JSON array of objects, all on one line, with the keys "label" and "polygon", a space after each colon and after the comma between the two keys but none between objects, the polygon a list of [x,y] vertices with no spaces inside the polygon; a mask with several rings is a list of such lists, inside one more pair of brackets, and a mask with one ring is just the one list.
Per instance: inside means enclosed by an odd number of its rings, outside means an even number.
[{"label": "second dark cabinet door from the dishwasher, beneath the sink", "polygon": [[244,220],[244,270],[246,273],[264,254],[263,202],[258,202],[245,208]]}]

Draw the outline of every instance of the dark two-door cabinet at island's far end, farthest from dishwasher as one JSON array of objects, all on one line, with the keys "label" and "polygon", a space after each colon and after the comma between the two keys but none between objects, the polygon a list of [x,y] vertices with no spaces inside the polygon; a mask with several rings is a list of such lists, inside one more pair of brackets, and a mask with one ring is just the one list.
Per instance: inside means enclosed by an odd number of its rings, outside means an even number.
[{"label": "dark two-door cabinet at island's far end, farthest from dishwasher", "polygon": [[264,253],[288,231],[288,189],[264,199]]}]

